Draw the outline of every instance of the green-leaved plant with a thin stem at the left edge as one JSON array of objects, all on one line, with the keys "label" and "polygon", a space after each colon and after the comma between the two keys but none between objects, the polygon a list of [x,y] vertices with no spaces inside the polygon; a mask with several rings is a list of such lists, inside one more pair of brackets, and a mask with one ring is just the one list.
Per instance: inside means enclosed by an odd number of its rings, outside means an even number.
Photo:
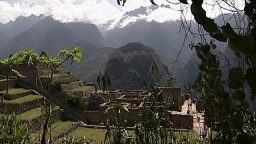
[{"label": "green-leaved plant with a thin stem at the left edge", "polygon": [[13,65],[17,65],[18,63],[24,61],[24,58],[22,56],[19,56],[18,53],[12,54],[9,58],[5,58],[3,60],[0,60],[1,65],[7,68],[6,71],[6,93],[1,98],[1,104],[3,103],[4,97],[8,95],[9,89],[10,89],[10,73],[14,72],[19,77],[25,77],[22,74],[20,74],[17,70],[13,69]]}]

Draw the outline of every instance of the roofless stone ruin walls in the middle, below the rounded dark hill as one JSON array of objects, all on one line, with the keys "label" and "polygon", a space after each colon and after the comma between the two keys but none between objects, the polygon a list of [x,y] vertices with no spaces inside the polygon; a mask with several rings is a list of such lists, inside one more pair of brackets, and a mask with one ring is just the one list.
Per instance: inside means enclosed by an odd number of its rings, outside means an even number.
[{"label": "roofless stone ruin walls in the middle, below the rounded dark hill", "polygon": [[[163,90],[163,100],[170,103],[166,108],[164,116],[170,119],[172,128],[193,129],[195,109],[191,109],[189,95],[180,92],[180,88],[158,87]],[[92,92],[88,98],[89,103],[98,104],[97,109],[84,111],[84,116],[89,125],[104,124],[106,120],[113,117],[111,113],[105,113],[111,104],[126,104],[129,113],[122,112],[122,118],[126,120],[125,126],[133,127],[140,120],[144,106],[152,102],[152,92],[145,90],[115,90],[109,92]],[[190,106],[190,108],[189,108]],[[190,110],[189,110],[190,109]]]}]

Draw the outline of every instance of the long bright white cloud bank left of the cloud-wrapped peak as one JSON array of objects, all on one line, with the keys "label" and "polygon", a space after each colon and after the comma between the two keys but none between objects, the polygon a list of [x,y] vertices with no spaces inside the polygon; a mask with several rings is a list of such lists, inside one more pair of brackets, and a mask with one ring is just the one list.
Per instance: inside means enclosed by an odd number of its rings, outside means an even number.
[{"label": "long bright white cloud bank left of the cloud-wrapped peak", "polygon": [[63,22],[91,20],[102,24],[123,14],[107,0],[19,0],[0,1],[0,22],[15,20],[19,15],[52,15]]}]

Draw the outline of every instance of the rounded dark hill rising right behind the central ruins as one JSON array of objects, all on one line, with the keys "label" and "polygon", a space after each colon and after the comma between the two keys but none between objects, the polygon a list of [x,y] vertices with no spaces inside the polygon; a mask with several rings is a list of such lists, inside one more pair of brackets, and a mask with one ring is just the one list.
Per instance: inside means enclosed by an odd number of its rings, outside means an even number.
[{"label": "rounded dark hill rising right behind the central ruins", "polygon": [[[149,83],[157,83],[157,78],[151,72],[156,62],[157,77],[160,82],[166,81],[170,72],[151,47],[140,43],[130,43],[115,49],[109,57],[106,72],[113,77],[113,88],[136,88],[132,79],[134,76],[147,77]],[[140,78],[142,78],[140,77]],[[163,84],[163,83],[161,83]]]}]

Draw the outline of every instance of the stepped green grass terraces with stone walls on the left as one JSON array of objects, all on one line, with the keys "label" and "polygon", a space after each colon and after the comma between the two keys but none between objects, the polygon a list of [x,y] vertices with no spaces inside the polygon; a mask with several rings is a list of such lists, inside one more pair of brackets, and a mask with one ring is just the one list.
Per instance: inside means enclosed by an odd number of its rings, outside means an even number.
[{"label": "stepped green grass terraces with stone walls on the left", "polygon": [[[0,76],[0,97],[6,93],[6,79],[5,76]],[[42,81],[48,81],[49,76],[41,76]],[[31,79],[34,81],[34,79]],[[56,94],[56,106],[54,106],[51,116],[51,140],[56,141],[63,136],[66,136],[70,132],[77,131],[79,122],[76,118],[70,120],[68,113],[76,111],[76,108],[68,106],[63,97],[70,95],[76,95],[76,97],[88,97],[90,92],[95,90],[93,84],[84,83],[79,81],[72,74],[65,72],[65,70],[58,70],[54,74],[54,83],[58,86],[58,92]],[[28,85],[22,88],[22,81],[17,80],[17,77],[11,77],[10,90],[8,95],[4,97],[3,105],[1,109],[4,109],[6,113],[17,113],[20,116],[22,122],[28,124],[29,131],[33,136],[39,136],[42,134],[42,125],[44,123],[44,113],[42,108],[44,106],[44,97],[35,90],[29,89]],[[67,95],[61,95],[61,94]],[[1,115],[1,114],[0,114]],[[50,133],[50,132],[49,132]],[[49,137],[49,134],[48,134]]]}]

